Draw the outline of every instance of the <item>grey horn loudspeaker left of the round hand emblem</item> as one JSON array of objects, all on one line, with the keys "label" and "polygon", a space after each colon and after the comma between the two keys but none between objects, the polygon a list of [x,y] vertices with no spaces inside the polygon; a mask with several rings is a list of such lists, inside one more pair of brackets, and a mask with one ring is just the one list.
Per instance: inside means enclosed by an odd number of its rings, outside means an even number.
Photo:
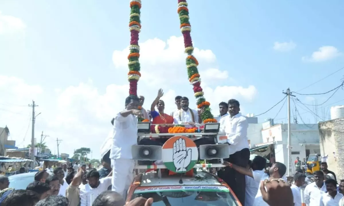
[{"label": "grey horn loudspeaker left of the round hand emblem", "polygon": [[161,160],[162,147],[156,145],[133,145],[131,155],[134,160]]}]

